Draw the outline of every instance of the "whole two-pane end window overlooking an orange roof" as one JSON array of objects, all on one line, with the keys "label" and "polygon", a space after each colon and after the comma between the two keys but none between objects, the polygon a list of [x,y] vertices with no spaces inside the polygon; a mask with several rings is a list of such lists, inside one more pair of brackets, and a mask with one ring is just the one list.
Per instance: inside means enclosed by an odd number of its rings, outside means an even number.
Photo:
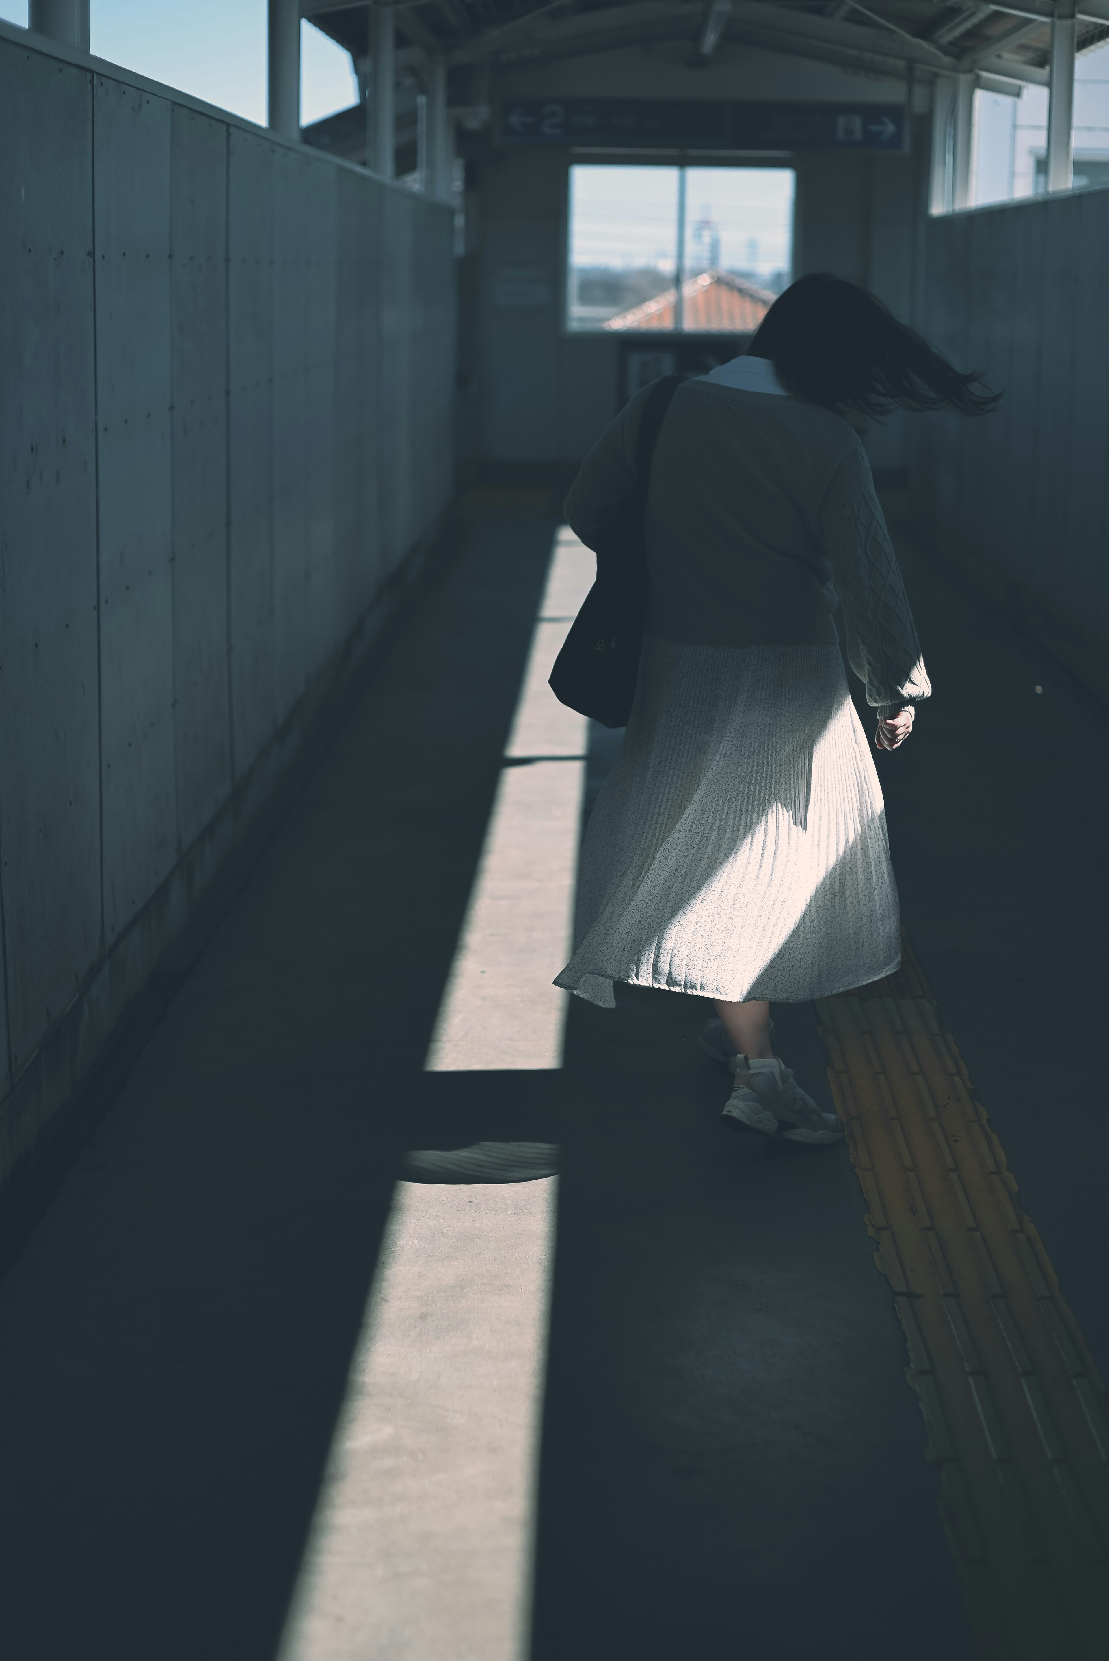
[{"label": "whole two-pane end window overlooking an orange roof", "polygon": [[792,168],[571,166],[566,327],[745,334],[790,281]]}]

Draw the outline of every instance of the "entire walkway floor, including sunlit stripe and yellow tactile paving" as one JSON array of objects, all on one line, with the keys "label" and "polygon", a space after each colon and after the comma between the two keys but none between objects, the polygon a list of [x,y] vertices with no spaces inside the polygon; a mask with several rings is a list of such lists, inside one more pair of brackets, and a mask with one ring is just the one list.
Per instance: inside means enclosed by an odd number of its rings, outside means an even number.
[{"label": "entire walkway floor, including sunlit stripe and yellow tactile paving", "polygon": [[775,1007],[797,1149],[550,987],[591,558],[470,502],[0,1286],[12,1661],[1102,1653],[1109,726],[895,541],[910,955]]}]

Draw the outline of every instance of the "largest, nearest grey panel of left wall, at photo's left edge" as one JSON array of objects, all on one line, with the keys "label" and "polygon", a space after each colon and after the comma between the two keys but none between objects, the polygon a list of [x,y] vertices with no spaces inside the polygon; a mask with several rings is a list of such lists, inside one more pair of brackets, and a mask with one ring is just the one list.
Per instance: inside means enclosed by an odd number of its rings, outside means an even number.
[{"label": "largest, nearest grey panel of left wall, at photo's left edge", "polygon": [[101,942],[90,76],[0,53],[0,1026],[7,982],[18,1073]]}]

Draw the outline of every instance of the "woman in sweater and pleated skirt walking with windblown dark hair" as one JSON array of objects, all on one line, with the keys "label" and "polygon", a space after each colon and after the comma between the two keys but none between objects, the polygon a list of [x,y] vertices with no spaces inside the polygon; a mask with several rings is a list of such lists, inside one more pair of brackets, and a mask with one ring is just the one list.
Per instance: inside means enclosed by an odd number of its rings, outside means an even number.
[{"label": "woman in sweater and pleated skirt walking with windblown dark hair", "polygon": [[[898,749],[931,686],[867,452],[848,417],[984,414],[996,397],[863,289],[802,277],[747,354],[684,382],[646,508],[649,598],[621,757],[581,854],[574,955],[556,985],[709,997],[701,1046],[734,1073],[724,1123],[833,1143],[770,1045],[770,1003],[900,965],[882,789],[832,613]],[[566,518],[586,545],[634,485],[649,387],[586,457]]]}]

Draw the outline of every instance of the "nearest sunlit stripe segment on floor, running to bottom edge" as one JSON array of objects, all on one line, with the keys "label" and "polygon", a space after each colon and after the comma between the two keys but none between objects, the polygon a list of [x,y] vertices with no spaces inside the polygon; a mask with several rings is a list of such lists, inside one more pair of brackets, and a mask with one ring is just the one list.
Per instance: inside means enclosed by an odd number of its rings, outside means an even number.
[{"label": "nearest sunlit stripe segment on floor, running to bottom edge", "polygon": [[554,1189],[397,1184],[281,1661],[525,1661]]}]

